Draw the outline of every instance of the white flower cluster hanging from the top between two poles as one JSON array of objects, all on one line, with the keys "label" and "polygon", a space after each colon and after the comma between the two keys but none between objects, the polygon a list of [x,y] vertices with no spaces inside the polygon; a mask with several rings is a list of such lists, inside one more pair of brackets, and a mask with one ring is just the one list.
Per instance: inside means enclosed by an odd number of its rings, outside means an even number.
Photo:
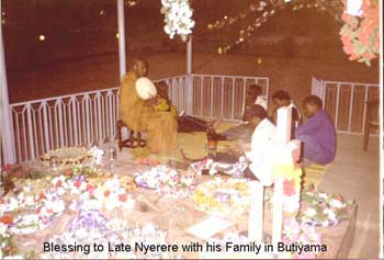
[{"label": "white flower cluster hanging from the top between two poles", "polygon": [[192,33],[194,21],[192,20],[192,9],[189,0],[161,0],[162,8],[160,12],[165,14],[165,32],[170,38],[179,34],[182,41],[187,41],[188,35]]}]

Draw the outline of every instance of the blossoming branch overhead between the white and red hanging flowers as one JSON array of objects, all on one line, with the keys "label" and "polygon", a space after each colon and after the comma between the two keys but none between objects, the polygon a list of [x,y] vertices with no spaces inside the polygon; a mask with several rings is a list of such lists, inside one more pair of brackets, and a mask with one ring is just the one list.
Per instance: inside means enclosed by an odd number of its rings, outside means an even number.
[{"label": "blossoming branch overhead between the white and red hanging flowers", "polygon": [[[315,9],[330,15],[336,21],[340,21],[342,5],[339,0],[253,0],[244,10],[236,15],[224,15],[223,19],[207,24],[210,32],[219,31],[226,27],[235,26],[239,22],[244,23],[239,30],[238,36],[230,43],[218,46],[218,54],[227,54],[234,47],[245,43],[247,38],[266,23],[275,12],[287,9],[291,11],[301,11],[303,9]],[[247,20],[247,21],[246,21]],[[250,21],[250,22],[248,22]]]}]

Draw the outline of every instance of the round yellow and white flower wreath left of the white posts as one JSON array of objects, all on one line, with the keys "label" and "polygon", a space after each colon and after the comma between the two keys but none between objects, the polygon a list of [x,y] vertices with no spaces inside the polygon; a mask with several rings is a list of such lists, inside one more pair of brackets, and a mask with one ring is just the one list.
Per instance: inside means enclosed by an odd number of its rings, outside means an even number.
[{"label": "round yellow and white flower wreath left of the white posts", "polygon": [[216,177],[197,185],[193,201],[197,208],[214,215],[240,215],[249,210],[249,189],[244,179]]}]

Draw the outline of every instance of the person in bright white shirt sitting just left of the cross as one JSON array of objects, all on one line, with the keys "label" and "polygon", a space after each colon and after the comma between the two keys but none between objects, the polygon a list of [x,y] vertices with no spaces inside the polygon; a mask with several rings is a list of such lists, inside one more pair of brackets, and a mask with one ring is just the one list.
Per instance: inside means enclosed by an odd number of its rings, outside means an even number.
[{"label": "person in bright white shirt sitting just left of the cross", "polygon": [[[268,120],[267,111],[253,104],[246,111],[247,121],[255,126],[247,158],[251,161],[249,170],[262,183],[269,184],[273,154],[276,149],[276,126]],[[246,177],[250,172],[246,173]]]}]

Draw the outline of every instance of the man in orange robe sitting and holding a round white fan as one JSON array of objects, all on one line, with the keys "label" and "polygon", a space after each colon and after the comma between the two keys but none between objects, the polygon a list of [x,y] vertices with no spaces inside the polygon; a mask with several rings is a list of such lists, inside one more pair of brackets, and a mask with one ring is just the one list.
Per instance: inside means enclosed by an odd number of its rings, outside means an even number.
[{"label": "man in orange robe sitting and holding a round white fan", "polygon": [[[178,148],[177,121],[170,112],[157,112],[155,93],[144,99],[143,89],[136,81],[148,74],[148,63],[135,59],[132,69],[124,76],[120,92],[121,120],[133,131],[147,131],[147,148],[150,152],[169,152]],[[143,86],[137,86],[144,88]],[[138,92],[139,91],[139,92]],[[140,95],[139,95],[140,93]],[[150,98],[153,97],[153,98]]]}]

